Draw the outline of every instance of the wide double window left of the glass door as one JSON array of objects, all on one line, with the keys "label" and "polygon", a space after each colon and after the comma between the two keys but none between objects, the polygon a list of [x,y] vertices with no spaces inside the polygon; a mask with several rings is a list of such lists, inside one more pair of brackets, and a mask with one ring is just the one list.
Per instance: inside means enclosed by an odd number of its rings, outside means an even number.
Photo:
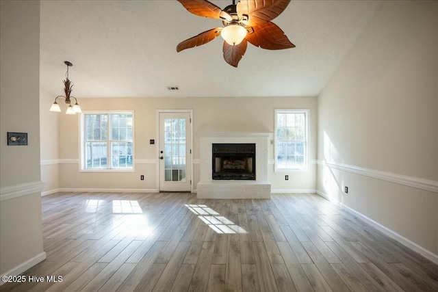
[{"label": "wide double window left of the glass door", "polygon": [[133,111],[83,113],[82,170],[133,170]]}]

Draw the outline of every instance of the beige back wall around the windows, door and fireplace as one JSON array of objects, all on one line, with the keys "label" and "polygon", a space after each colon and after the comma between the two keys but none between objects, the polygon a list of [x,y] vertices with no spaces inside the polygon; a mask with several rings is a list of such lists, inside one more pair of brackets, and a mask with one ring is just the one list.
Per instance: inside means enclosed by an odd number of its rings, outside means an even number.
[{"label": "beige back wall around the windows, door and fireplace", "polygon": [[[134,109],[135,159],[156,159],[157,149],[149,140],[156,137],[157,109],[193,109],[194,159],[199,159],[197,132],[274,132],[274,109],[310,109],[309,159],[316,158],[317,106],[315,97],[294,98],[81,98],[84,111]],[[79,159],[79,117],[60,114],[60,159]],[[274,159],[273,146],[269,159]],[[194,183],[199,181],[194,165]],[[60,187],[64,189],[157,189],[155,164],[136,164],[134,173],[79,172],[79,165],[60,165]],[[315,164],[307,172],[274,172],[272,189],[315,189]],[[145,180],[140,181],[144,174]],[[196,189],[196,187],[195,187]]]}]

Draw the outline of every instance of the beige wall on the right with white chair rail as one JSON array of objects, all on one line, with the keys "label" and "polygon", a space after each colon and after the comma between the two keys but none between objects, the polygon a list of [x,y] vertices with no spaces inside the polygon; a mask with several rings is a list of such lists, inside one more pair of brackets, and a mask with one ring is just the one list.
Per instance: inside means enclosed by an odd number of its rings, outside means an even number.
[{"label": "beige wall on the right with white chair rail", "polygon": [[376,12],[318,96],[317,178],[323,196],[435,255],[437,21],[433,1],[386,1]]}]

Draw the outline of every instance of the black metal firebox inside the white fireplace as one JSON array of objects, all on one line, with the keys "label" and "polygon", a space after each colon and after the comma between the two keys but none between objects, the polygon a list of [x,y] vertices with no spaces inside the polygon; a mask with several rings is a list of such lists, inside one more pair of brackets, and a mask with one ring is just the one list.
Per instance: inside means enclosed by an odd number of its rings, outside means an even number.
[{"label": "black metal firebox inside the white fireplace", "polygon": [[255,144],[212,144],[214,180],[255,181]]}]

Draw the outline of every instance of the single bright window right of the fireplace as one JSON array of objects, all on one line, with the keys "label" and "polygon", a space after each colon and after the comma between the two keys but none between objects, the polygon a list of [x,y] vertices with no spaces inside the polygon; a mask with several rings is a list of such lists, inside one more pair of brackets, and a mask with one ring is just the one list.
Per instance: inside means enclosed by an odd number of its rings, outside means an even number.
[{"label": "single bright window right of the fireplace", "polygon": [[309,110],[275,110],[275,169],[307,169]]}]

